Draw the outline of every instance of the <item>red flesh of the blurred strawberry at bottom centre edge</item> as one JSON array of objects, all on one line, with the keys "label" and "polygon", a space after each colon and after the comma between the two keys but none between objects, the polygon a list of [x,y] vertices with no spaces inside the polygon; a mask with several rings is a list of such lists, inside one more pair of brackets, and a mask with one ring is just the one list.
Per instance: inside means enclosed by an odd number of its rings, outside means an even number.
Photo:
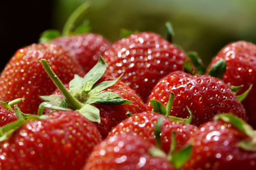
[{"label": "red flesh of the blurred strawberry at bottom centre edge", "polygon": [[154,146],[151,143],[127,134],[106,138],[95,146],[84,170],[174,169],[166,159],[152,157],[149,154],[152,147]]}]

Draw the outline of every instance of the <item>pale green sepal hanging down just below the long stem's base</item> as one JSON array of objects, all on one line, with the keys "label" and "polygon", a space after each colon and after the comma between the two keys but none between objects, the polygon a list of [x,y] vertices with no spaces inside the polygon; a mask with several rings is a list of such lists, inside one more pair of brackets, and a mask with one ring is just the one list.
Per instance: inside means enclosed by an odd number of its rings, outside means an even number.
[{"label": "pale green sepal hanging down just below the long stem's base", "polygon": [[88,120],[100,124],[100,110],[92,104],[84,104],[84,106],[77,111],[81,113],[84,117],[86,117]]}]

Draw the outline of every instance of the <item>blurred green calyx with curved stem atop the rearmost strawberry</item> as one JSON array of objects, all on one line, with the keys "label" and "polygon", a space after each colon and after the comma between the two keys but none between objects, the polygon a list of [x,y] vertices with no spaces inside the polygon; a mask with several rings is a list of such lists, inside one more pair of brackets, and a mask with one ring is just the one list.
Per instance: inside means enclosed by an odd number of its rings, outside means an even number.
[{"label": "blurred green calyx with curved stem atop the rearmost strawberry", "polygon": [[[49,29],[42,32],[39,43],[47,43],[52,39],[60,36],[72,36],[76,34],[84,34],[91,31],[89,20],[84,20],[82,23],[79,22],[79,18],[82,18],[84,14],[90,8],[90,3],[86,2],[81,4],[68,18],[66,24],[63,27],[62,34],[60,31],[55,29]],[[81,23],[81,24],[78,24]]]}]

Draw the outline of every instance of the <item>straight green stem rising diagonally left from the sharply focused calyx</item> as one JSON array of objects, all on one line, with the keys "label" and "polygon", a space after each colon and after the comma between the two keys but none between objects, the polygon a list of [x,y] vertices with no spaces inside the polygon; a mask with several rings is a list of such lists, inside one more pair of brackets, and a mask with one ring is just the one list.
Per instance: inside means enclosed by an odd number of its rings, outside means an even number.
[{"label": "straight green stem rising diagonally left from the sharply focused calyx", "polygon": [[56,87],[58,87],[58,89],[61,91],[61,93],[63,94],[63,96],[65,96],[65,98],[67,99],[67,102],[76,110],[79,110],[82,108],[82,105],[75,99],[74,96],[72,96],[70,94],[70,92],[68,92],[68,90],[65,88],[65,86],[63,85],[63,83],[60,81],[60,79],[58,78],[58,76],[54,73],[54,71],[52,71],[51,66],[49,66],[47,60],[42,59],[41,60],[42,66],[44,67],[45,71],[47,72],[47,74],[50,76],[51,80],[54,82],[54,84],[56,85]]}]

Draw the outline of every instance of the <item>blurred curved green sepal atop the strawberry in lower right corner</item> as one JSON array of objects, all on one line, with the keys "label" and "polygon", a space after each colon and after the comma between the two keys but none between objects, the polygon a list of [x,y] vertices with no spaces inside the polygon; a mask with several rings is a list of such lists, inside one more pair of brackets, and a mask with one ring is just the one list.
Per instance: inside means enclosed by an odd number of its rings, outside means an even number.
[{"label": "blurred curved green sepal atop the strawberry in lower right corner", "polygon": [[244,122],[241,118],[236,117],[236,115],[233,115],[232,113],[218,114],[214,117],[214,120],[219,119],[234,125],[234,127],[239,129],[239,131],[243,132],[247,136],[253,137],[255,135],[255,131],[253,131],[250,125],[246,124],[246,122]]}]

